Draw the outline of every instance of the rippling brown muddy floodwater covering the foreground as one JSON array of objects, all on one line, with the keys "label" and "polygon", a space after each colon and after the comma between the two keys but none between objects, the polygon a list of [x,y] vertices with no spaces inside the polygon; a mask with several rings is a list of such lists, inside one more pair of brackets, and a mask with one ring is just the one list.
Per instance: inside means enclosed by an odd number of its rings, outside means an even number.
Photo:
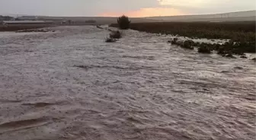
[{"label": "rippling brown muddy floodwater covering the foreground", "polygon": [[256,62],[168,36],[0,33],[0,140],[255,140]]}]

